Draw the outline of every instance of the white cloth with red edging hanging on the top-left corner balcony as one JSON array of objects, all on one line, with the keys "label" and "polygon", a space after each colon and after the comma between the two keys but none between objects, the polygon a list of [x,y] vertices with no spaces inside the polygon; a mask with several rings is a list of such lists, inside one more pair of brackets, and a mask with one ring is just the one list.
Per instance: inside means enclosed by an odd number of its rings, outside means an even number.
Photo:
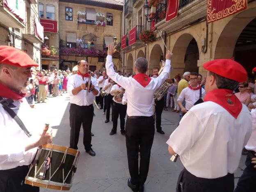
[{"label": "white cloth with red edging hanging on the top-left corner balcony", "polygon": [[3,0],[4,6],[18,19],[25,23],[26,19],[26,4],[23,0]]}]

